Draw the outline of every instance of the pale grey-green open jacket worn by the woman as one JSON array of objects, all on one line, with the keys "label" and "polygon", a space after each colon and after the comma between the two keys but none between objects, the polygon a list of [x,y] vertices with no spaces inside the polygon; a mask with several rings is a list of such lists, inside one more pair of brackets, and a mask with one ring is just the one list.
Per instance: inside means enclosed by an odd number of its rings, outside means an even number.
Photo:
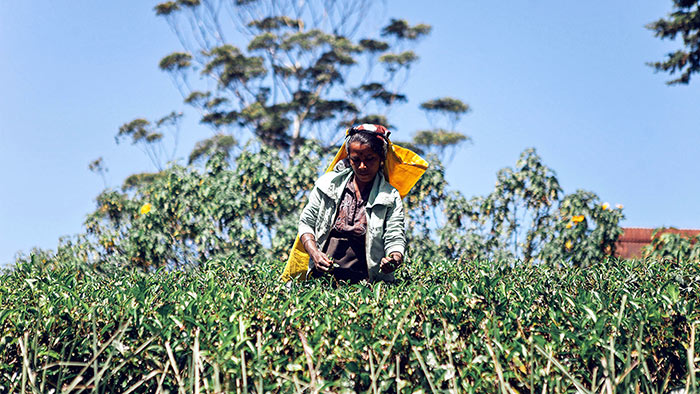
[{"label": "pale grey-green open jacket worn by the woman", "polygon": [[[338,167],[336,167],[338,170]],[[309,201],[299,218],[299,236],[311,233],[316,237],[319,249],[328,240],[343,189],[352,176],[351,168],[340,168],[322,175],[314,185]],[[377,173],[365,206],[367,214],[367,268],[370,282],[394,281],[394,274],[384,274],[379,263],[392,252],[402,255],[406,247],[403,202],[399,192]],[[309,259],[309,271],[314,262]]]}]

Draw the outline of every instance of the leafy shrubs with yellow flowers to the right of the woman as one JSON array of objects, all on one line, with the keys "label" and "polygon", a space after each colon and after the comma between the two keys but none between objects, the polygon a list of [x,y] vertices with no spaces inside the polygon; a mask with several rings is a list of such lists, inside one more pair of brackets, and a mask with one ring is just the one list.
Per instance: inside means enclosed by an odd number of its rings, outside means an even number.
[{"label": "leafy shrubs with yellow flowers to the right of the woman", "polygon": [[591,192],[563,195],[534,149],[498,172],[493,192],[471,199],[448,192],[444,168],[434,157],[431,162],[436,165],[405,199],[410,258],[587,266],[615,252],[622,209],[601,204]]}]

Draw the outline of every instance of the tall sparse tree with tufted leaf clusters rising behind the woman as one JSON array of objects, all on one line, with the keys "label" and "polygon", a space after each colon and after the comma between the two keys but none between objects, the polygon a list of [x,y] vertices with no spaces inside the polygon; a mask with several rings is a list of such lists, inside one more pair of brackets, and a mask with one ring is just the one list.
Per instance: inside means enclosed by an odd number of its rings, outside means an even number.
[{"label": "tall sparse tree with tufted leaf clusters rising behind the woman", "polygon": [[[253,136],[294,155],[308,138],[337,144],[354,123],[391,127],[390,109],[408,101],[415,44],[431,31],[383,20],[370,0],[178,0],[155,12],[182,45],[160,68],[214,131],[190,161]],[[418,134],[421,145],[466,138],[429,134]]]}]

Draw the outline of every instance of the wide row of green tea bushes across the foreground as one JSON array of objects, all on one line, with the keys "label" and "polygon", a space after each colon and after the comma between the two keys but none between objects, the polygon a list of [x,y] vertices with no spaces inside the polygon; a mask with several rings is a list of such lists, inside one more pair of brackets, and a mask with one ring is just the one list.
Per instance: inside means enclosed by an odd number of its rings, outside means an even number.
[{"label": "wide row of green tea bushes across the foreground", "polygon": [[0,278],[0,392],[697,387],[697,265],[413,262],[393,285],[280,271],[20,264]]}]

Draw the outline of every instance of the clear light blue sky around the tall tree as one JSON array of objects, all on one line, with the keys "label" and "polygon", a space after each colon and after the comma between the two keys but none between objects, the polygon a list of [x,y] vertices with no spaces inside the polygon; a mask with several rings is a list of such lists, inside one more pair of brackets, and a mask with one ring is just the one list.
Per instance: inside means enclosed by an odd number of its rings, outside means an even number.
[{"label": "clear light blue sky around the tall tree", "polygon": [[[111,187],[153,170],[137,148],[115,144],[121,124],[185,111],[180,157],[210,135],[157,67],[180,47],[155,4],[0,2],[0,263],[83,231],[104,188],[90,161],[104,158]],[[428,126],[422,101],[457,97],[473,109],[458,125],[473,143],[447,178],[465,195],[488,193],[498,169],[535,147],[565,192],[623,204],[624,226],[700,228],[700,76],[669,87],[645,65],[679,46],[644,29],[670,9],[389,0],[385,16],[433,25],[404,86],[409,102],[391,113],[394,136]]]}]

